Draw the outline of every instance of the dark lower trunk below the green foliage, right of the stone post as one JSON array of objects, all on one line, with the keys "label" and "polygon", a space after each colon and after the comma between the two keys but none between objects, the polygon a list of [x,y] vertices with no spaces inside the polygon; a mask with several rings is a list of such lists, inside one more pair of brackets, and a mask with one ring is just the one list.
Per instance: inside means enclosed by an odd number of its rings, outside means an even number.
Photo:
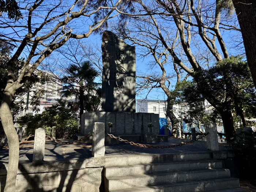
[{"label": "dark lower trunk below the green foliage, right of the stone post", "polygon": [[220,114],[221,114],[222,123],[224,126],[224,131],[226,134],[227,142],[232,142],[235,139],[234,137],[235,128],[234,128],[232,112],[231,110],[224,110]]}]

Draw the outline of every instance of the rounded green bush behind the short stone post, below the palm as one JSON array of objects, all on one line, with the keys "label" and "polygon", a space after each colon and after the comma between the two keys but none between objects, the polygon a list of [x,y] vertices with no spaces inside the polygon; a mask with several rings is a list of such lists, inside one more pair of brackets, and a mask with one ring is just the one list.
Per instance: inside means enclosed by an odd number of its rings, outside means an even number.
[{"label": "rounded green bush behind the short stone post, below the palm", "polygon": [[17,123],[27,126],[27,135],[34,134],[39,127],[45,129],[46,135],[51,135],[55,127],[57,139],[72,139],[79,131],[78,120],[72,109],[67,102],[60,100],[59,104],[47,108],[42,114],[20,117]]}]

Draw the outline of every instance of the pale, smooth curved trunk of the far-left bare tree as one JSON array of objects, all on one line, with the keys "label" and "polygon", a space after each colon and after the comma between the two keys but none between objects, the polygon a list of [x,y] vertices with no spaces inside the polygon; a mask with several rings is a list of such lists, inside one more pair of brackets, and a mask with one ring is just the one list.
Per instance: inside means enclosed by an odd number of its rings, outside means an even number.
[{"label": "pale, smooth curved trunk of the far-left bare tree", "polygon": [[11,101],[15,91],[5,88],[0,106],[0,118],[9,144],[9,162],[4,192],[14,192],[19,164],[19,138],[14,128],[10,110]]}]

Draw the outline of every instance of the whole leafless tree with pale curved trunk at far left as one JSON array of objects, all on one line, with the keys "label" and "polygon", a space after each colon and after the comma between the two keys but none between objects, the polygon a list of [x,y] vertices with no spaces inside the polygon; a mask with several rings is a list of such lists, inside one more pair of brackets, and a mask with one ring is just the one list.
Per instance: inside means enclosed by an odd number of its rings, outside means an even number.
[{"label": "whole leafless tree with pale curved trunk at far left", "polygon": [[[12,121],[10,105],[15,91],[23,86],[35,69],[46,57],[63,46],[69,39],[89,37],[100,30],[105,22],[122,10],[122,0],[113,1],[17,1],[23,19],[9,19],[3,13],[0,17],[1,41],[16,47],[8,61],[8,79],[0,106],[0,118],[9,143],[9,164],[5,192],[15,191],[19,162],[19,140]],[[81,26],[83,26],[81,28]],[[14,63],[25,57],[25,64],[14,78]]]}]

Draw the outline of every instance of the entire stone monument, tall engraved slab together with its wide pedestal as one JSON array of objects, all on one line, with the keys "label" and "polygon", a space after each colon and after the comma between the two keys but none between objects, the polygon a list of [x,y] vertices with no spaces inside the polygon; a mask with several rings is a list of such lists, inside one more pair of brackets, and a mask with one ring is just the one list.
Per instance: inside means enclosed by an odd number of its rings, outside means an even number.
[{"label": "entire stone monument, tall engraved slab together with its wide pedestal", "polygon": [[[81,133],[93,131],[95,122],[105,124],[105,132],[133,142],[156,142],[159,114],[136,113],[135,47],[110,31],[102,36],[102,111],[86,112],[81,116]],[[112,123],[111,130],[108,123]],[[148,123],[154,127],[148,132]],[[96,133],[97,134],[97,133]],[[166,136],[167,137],[167,136]],[[112,143],[106,135],[105,143]]]}]

